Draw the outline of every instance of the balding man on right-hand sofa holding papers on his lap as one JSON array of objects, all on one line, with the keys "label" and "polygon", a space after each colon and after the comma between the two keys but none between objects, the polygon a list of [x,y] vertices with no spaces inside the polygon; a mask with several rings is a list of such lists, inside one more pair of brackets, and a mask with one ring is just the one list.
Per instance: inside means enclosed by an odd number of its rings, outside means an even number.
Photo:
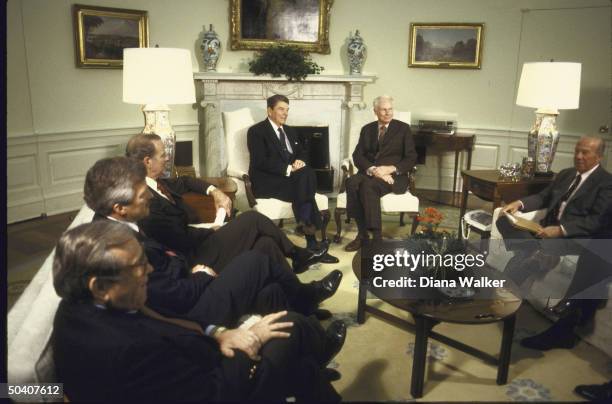
[{"label": "balding man on right-hand sofa holding papers on his lap", "polygon": [[[580,138],[574,150],[574,167],[559,172],[552,184],[539,194],[503,208],[504,213],[547,208],[541,222],[543,229],[537,234],[513,227],[505,215],[496,222],[506,248],[515,252],[506,271],[517,284],[552,269],[561,255],[580,254],[566,294],[568,299],[550,309],[561,320],[545,332],[521,341],[527,348],[573,347],[576,342],[574,328],[591,319],[599,304],[589,296],[586,299],[573,297],[610,276],[606,268],[612,261],[612,248],[607,240],[612,237],[612,175],[600,165],[604,152],[603,139]],[[584,243],[578,242],[590,238],[594,240],[588,242],[586,248],[582,246]],[[601,298],[602,293],[597,297]]]}]

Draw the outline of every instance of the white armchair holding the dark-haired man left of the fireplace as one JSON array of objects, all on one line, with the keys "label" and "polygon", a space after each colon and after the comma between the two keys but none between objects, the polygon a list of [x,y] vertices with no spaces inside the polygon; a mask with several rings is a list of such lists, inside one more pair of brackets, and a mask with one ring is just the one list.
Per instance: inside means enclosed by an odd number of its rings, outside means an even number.
[{"label": "white armchair holding the dark-haired man left of the fireplace", "polygon": [[[223,112],[223,127],[225,130],[225,146],[227,150],[227,175],[238,180],[237,200],[246,195],[248,205],[257,212],[272,220],[292,219],[291,203],[275,198],[255,198],[249,178],[249,149],[247,147],[247,131],[255,124],[248,108],[231,112]],[[316,193],[315,202],[323,216],[321,238],[327,239],[326,231],[329,223],[329,201],[327,196]],[[240,201],[239,201],[240,203]]]}]

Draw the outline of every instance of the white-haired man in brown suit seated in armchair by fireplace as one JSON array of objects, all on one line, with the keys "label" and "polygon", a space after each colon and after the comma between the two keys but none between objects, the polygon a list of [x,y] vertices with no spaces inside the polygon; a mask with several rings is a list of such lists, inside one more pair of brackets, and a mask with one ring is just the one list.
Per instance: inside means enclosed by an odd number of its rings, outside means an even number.
[{"label": "white-haired man in brown suit seated in armchair by fireplace", "polygon": [[393,119],[393,98],[374,99],[378,120],[365,125],[353,152],[359,170],[346,181],[346,211],[357,222],[358,234],[346,251],[357,251],[372,232],[381,238],[380,198],[390,192],[408,189],[408,173],[416,164],[410,125]]}]

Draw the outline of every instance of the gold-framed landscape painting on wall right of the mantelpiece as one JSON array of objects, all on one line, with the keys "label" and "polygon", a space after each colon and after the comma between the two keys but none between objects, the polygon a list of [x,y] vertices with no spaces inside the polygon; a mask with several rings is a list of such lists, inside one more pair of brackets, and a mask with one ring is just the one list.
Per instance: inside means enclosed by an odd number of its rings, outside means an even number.
[{"label": "gold-framed landscape painting on wall right of the mantelpiece", "polygon": [[409,67],[480,69],[482,23],[410,24]]}]

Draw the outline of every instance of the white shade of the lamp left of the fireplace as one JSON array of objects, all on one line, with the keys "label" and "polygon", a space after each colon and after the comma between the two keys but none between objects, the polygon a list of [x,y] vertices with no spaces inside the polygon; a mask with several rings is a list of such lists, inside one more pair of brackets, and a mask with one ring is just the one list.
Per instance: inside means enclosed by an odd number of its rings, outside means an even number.
[{"label": "white shade of the lamp left of the fireplace", "polygon": [[124,49],[123,102],[129,104],[195,103],[195,86],[189,50]]}]

